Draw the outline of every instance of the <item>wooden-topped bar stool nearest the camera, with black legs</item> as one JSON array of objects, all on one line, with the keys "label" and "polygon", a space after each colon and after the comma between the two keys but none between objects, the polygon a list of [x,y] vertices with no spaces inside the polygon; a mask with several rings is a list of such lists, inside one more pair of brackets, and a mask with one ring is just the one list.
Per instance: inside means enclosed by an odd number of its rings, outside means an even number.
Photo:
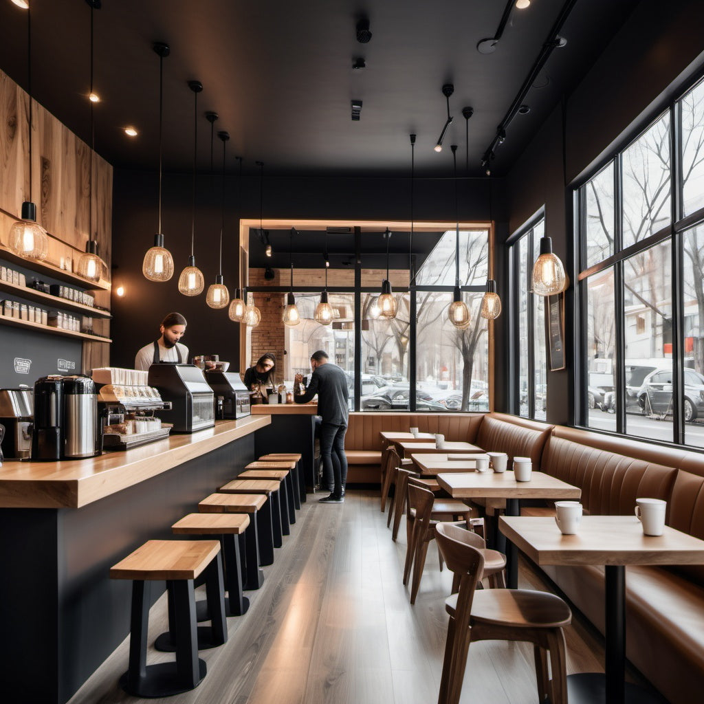
[{"label": "wooden-topped bar stool nearest the camera, with black legs", "polygon": [[[194,593],[194,580],[205,570],[219,575],[222,584],[217,540],[150,540],[111,568],[111,579],[132,579],[130,661],[127,672],[120,677],[120,686],[127,693],[136,697],[168,697],[194,689],[206,676],[206,663],[198,657]],[[146,665],[150,585],[163,579],[172,585],[176,661]],[[210,604],[213,635],[225,643],[222,592],[217,601]]]}]

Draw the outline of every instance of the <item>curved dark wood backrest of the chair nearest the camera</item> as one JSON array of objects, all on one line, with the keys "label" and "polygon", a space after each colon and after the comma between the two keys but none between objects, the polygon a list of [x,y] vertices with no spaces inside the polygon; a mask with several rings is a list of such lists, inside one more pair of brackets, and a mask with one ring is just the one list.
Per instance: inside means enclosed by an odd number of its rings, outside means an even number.
[{"label": "curved dark wood backrest of the chair nearest the camera", "polygon": [[457,602],[460,623],[460,613],[469,619],[474,590],[477,589],[477,582],[484,572],[484,555],[479,552],[481,548],[476,547],[484,541],[477,534],[452,523],[436,524],[435,539],[448,568],[460,576]]}]

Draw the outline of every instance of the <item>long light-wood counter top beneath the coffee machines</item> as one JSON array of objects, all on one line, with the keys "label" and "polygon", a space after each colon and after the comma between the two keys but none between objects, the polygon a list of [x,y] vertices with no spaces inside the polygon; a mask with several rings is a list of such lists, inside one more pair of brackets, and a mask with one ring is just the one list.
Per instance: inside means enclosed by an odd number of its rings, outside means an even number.
[{"label": "long light-wood counter top beneath the coffee machines", "polygon": [[190,435],[170,435],[132,450],[85,460],[7,460],[0,467],[0,508],[80,508],[227,445],[270,422],[268,416],[219,420],[214,428]]}]

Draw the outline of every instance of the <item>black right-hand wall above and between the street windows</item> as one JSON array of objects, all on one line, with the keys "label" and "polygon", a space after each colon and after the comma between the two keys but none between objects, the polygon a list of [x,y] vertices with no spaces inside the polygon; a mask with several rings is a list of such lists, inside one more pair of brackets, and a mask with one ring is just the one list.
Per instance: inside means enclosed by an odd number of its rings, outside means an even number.
[{"label": "black right-hand wall above and between the street windows", "polygon": [[[579,350],[579,321],[573,314],[577,256],[572,238],[572,189],[565,184],[577,185],[580,178],[591,175],[698,75],[704,63],[703,23],[704,3],[698,0],[641,2],[577,89],[566,97],[565,168],[562,106],[558,106],[506,179],[508,232],[515,232],[544,205],[546,234],[553,238],[553,249],[565,262],[572,282],[565,307],[568,368],[548,372],[550,422],[574,420],[575,373],[570,360]],[[508,261],[500,258],[499,278],[505,282]],[[504,326],[508,320],[504,319]],[[508,374],[510,360],[504,363]],[[507,403],[506,397],[498,401]]]}]

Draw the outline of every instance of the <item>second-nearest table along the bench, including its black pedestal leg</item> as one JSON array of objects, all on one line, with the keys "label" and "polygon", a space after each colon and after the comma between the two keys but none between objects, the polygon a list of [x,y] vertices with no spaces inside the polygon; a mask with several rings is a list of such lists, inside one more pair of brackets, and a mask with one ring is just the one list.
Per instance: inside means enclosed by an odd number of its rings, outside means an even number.
[{"label": "second-nearest table along the bench, including its black pedestal leg", "polygon": [[[471,474],[438,474],[438,484],[452,498],[505,498],[506,515],[520,515],[522,498],[573,498],[582,496],[582,489],[543,472],[532,472],[529,482],[517,482],[513,472],[472,472]],[[553,520],[554,523],[554,520]],[[555,526],[556,527],[556,526]],[[518,551],[513,543],[505,543],[496,531],[494,547],[506,553],[506,581],[509,589],[518,586]]]}]

